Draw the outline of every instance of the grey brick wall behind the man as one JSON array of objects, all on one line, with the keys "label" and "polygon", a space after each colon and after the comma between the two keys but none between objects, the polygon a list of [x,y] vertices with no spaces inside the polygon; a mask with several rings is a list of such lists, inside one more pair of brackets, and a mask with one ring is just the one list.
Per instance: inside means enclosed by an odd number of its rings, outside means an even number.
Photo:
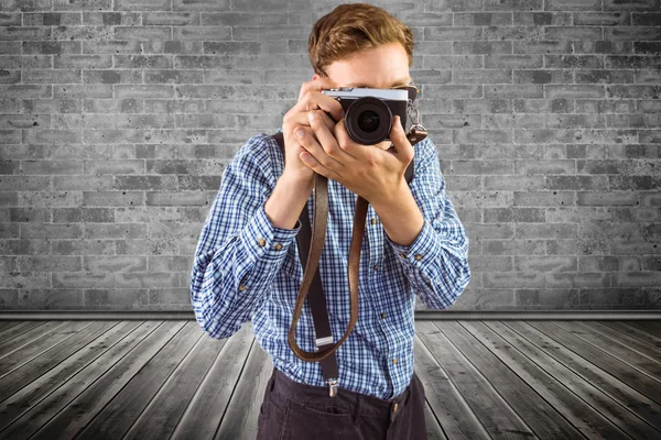
[{"label": "grey brick wall behind the man", "polygon": [[[188,310],[224,166],[335,3],[2,0],[0,308]],[[660,1],[376,3],[472,240],[453,308],[660,308]]]}]

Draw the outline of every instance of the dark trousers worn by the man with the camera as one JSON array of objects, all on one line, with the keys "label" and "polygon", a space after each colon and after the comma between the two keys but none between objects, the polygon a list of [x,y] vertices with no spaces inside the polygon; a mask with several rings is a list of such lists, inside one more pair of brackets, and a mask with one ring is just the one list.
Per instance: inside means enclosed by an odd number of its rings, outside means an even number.
[{"label": "dark trousers worn by the man with the camera", "polygon": [[257,440],[426,440],[424,387],[415,373],[392,400],[292,381],[273,367],[259,411]]}]

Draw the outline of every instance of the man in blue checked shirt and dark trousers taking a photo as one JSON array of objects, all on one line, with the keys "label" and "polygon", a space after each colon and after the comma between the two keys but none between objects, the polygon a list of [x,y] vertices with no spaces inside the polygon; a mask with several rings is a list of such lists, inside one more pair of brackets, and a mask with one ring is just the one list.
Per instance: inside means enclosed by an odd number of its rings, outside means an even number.
[{"label": "man in blue checked shirt and dark trousers taking a photo", "polygon": [[[315,75],[284,116],[284,155],[272,136],[259,134],[224,173],[195,253],[195,316],[218,339],[251,318],[258,342],[272,355],[258,439],[425,439],[424,388],[413,372],[415,295],[434,309],[456,300],[470,279],[468,239],[430,139],[412,146],[395,117],[393,148],[390,141],[357,144],[347,134],[342,106],[322,94],[409,85],[412,32],[377,7],[343,4],[315,23],[308,50]],[[408,184],[404,170],[413,157]],[[321,364],[301,361],[288,345],[303,278],[299,217],[305,204],[312,211],[315,173],[328,178],[318,271],[335,341],[349,321],[347,258],[357,196],[369,202],[359,319],[335,352],[335,397]],[[314,339],[305,305],[296,342],[313,352]]]}]

